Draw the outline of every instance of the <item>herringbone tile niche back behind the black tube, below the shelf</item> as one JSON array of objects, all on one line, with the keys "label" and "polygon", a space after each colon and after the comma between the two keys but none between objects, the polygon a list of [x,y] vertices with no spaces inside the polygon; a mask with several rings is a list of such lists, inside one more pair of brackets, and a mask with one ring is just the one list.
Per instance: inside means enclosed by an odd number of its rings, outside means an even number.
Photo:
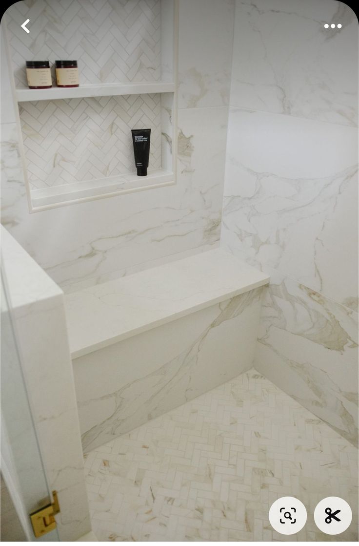
[{"label": "herringbone tile niche back behind the black tube, below the shelf", "polygon": [[20,103],[32,189],[135,170],[131,129],[151,128],[149,169],[161,167],[159,94]]}]

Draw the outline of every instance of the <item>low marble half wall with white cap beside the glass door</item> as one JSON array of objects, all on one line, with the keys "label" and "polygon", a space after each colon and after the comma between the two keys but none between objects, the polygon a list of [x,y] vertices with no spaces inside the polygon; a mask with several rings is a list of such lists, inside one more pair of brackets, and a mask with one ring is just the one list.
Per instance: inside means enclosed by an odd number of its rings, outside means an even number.
[{"label": "low marble half wall with white cap beside the glass door", "polygon": [[57,529],[61,541],[73,541],[89,532],[91,523],[63,294],[3,228],[1,239],[32,417],[49,487],[58,492],[61,506]]}]

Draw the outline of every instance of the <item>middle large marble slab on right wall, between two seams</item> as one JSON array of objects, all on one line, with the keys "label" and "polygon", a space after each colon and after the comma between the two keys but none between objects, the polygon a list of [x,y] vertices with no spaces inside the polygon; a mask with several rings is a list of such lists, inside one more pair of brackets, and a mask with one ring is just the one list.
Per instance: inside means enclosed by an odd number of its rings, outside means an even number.
[{"label": "middle large marble slab on right wall, between two seams", "polygon": [[357,310],[357,129],[231,109],[224,242]]}]

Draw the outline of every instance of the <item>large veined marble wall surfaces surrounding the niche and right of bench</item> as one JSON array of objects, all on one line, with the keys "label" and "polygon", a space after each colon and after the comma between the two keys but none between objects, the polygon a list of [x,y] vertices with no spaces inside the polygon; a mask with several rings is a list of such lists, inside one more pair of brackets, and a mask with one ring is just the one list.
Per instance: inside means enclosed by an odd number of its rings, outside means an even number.
[{"label": "large veined marble wall surfaces surrounding the niche and right of bench", "polygon": [[223,217],[221,244],[272,277],[257,369],[351,441],[357,35],[334,0],[179,0],[177,185],[32,214],[1,64],[2,223],[53,280],[211,248]]}]

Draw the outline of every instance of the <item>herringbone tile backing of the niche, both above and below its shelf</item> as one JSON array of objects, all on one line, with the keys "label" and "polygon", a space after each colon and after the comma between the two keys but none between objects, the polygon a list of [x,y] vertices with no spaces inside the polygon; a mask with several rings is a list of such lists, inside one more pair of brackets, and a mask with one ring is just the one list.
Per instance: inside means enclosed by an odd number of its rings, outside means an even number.
[{"label": "herringbone tile backing of the niche, both above and below its shelf", "polygon": [[[160,80],[161,0],[27,0],[7,11],[16,87],[27,60],[76,59],[80,85]],[[20,25],[30,19],[31,32]],[[55,84],[55,81],[53,82]],[[159,94],[20,103],[32,189],[135,171],[131,129],[151,128],[161,167]]]}]

